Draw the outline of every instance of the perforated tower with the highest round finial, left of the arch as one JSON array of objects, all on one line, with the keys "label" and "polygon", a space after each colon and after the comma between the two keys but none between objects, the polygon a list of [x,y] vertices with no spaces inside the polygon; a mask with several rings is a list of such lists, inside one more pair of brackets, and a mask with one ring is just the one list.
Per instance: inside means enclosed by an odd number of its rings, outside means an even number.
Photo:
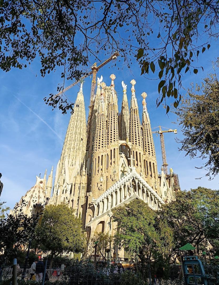
[{"label": "perforated tower with the highest round finial, left of the arch", "polygon": [[114,89],[114,80],[116,76],[110,75],[112,80],[109,94],[109,106],[107,114],[107,189],[118,180],[118,160],[119,160],[119,130],[118,130],[118,103],[116,91]]}]

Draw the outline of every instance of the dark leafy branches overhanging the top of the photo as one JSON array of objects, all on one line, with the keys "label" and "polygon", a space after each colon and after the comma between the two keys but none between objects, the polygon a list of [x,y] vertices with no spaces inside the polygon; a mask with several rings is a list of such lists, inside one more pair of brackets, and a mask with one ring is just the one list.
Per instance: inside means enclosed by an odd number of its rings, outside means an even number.
[{"label": "dark leafy branches overhanging the top of the photo", "polygon": [[[1,1],[0,68],[21,69],[39,56],[42,76],[61,66],[64,80],[78,80],[99,53],[118,51],[128,67],[136,58],[142,74],[157,72],[157,105],[172,97],[177,107],[182,74],[198,72],[198,54],[218,37],[218,9],[217,0]],[[52,95],[53,107],[72,107]]]}]

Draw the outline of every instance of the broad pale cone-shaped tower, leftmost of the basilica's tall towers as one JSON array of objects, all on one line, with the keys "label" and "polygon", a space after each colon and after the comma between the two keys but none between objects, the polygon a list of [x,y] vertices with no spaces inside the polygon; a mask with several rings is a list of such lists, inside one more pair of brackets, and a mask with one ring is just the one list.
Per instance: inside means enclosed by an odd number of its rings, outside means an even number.
[{"label": "broad pale cone-shaped tower, leftmost of the basilica's tall towers", "polygon": [[[77,94],[73,113],[66,132],[60,162],[56,171],[53,196],[55,203],[70,203],[70,196],[74,193],[75,177],[82,172],[86,154],[86,117],[84,96],[82,90]],[[53,198],[54,200],[54,198]]]}]

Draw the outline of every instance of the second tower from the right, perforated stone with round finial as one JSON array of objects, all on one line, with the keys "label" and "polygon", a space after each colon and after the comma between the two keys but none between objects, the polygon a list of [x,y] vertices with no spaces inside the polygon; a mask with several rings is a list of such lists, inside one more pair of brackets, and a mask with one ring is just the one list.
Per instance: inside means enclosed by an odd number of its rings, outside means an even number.
[{"label": "second tower from the right, perforated stone with round finial", "polygon": [[131,154],[134,158],[134,166],[136,171],[141,174],[143,172],[143,144],[142,144],[142,132],[141,123],[138,112],[138,103],[135,97],[135,84],[133,79],[130,82],[132,84],[132,99],[130,104],[130,120],[129,120],[129,140],[132,143]]}]

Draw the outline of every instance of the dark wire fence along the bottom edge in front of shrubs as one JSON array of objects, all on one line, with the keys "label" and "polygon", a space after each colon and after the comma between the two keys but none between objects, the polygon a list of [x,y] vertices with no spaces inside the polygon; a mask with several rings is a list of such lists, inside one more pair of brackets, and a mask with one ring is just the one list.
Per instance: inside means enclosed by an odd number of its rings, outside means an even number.
[{"label": "dark wire fence along the bottom edge in front of shrubs", "polygon": [[[170,267],[169,272],[165,272],[164,276],[157,276],[149,267],[144,268],[143,274],[139,273],[134,264],[123,263],[120,267],[107,265],[107,262],[97,262],[96,268],[93,263],[81,262],[81,264],[54,264],[50,268],[49,264],[46,268],[46,274],[50,282],[59,285],[185,285],[183,276],[179,274],[179,265]],[[24,264],[20,264],[17,268],[18,280],[21,279]],[[205,273],[209,275],[208,285],[219,285],[219,266],[205,265]],[[3,271],[3,280],[12,277],[12,267],[8,266]],[[25,280],[30,279],[30,265],[28,265],[25,274]],[[4,283],[3,283],[4,284]],[[18,282],[19,284],[19,282]],[[40,283],[38,283],[40,284]]]}]

